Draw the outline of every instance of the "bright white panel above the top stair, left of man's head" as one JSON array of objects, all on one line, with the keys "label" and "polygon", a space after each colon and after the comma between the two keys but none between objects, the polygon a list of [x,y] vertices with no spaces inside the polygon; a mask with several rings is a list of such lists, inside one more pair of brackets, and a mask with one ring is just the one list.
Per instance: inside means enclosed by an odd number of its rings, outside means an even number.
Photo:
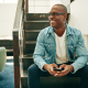
[{"label": "bright white panel above the top stair, left of man's head", "polygon": [[61,0],[29,0],[29,13],[47,13]]}]

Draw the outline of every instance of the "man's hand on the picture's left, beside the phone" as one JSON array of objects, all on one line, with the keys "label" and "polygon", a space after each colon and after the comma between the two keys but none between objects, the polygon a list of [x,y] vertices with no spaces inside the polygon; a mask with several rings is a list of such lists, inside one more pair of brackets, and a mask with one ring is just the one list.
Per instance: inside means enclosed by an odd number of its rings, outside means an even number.
[{"label": "man's hand on the picture's left, beside the phone", "polygon": [[46,69],[51,75],[57,74],[57,72],[54,70],[54,68],[58,68],[56,64],[45,64],[44,69]]}]

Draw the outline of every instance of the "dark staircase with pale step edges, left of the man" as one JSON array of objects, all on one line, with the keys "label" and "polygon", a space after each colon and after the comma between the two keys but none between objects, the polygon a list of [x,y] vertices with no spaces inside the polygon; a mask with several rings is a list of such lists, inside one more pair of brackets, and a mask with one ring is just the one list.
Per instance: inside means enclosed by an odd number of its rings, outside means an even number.
[{"label": "dark staircase with pale step edges, left of the man", "polygon": [[28,88],[28,68],[33,64],[33,52],[36,44],[36,37],[40,31],[50,26],[46,13],[26,13],[24,22],[24,44],[23,44],[23,75],[21,75],[22,88]]}]

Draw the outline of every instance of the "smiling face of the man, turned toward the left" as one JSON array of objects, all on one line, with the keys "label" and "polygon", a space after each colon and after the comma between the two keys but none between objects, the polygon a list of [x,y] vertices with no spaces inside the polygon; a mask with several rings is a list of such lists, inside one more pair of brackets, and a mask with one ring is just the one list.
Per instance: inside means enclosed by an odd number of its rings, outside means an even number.
[{"label": "smiling face of the man, turned toward the left", "polygon": [[[52,15],[48,16],[48,20],[50,20],[51,26],[55,29],[61,29],[63,24],[65,24],[66,14],[55,14],[56,12],[65,13],[62,7],[54,6],[50,12]],[[53,14],[55,14],[55,16]]]}]

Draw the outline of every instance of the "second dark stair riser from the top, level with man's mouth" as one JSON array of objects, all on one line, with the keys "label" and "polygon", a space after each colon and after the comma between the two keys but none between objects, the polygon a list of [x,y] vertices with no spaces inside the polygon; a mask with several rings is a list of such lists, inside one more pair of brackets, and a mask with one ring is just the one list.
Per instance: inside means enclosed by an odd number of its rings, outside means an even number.
[{"label": "second dark stair riser from the top, level with man's mouth", "polygon": [[25,22],[24,30],[42,30],[50,26],[50,22]]}]

